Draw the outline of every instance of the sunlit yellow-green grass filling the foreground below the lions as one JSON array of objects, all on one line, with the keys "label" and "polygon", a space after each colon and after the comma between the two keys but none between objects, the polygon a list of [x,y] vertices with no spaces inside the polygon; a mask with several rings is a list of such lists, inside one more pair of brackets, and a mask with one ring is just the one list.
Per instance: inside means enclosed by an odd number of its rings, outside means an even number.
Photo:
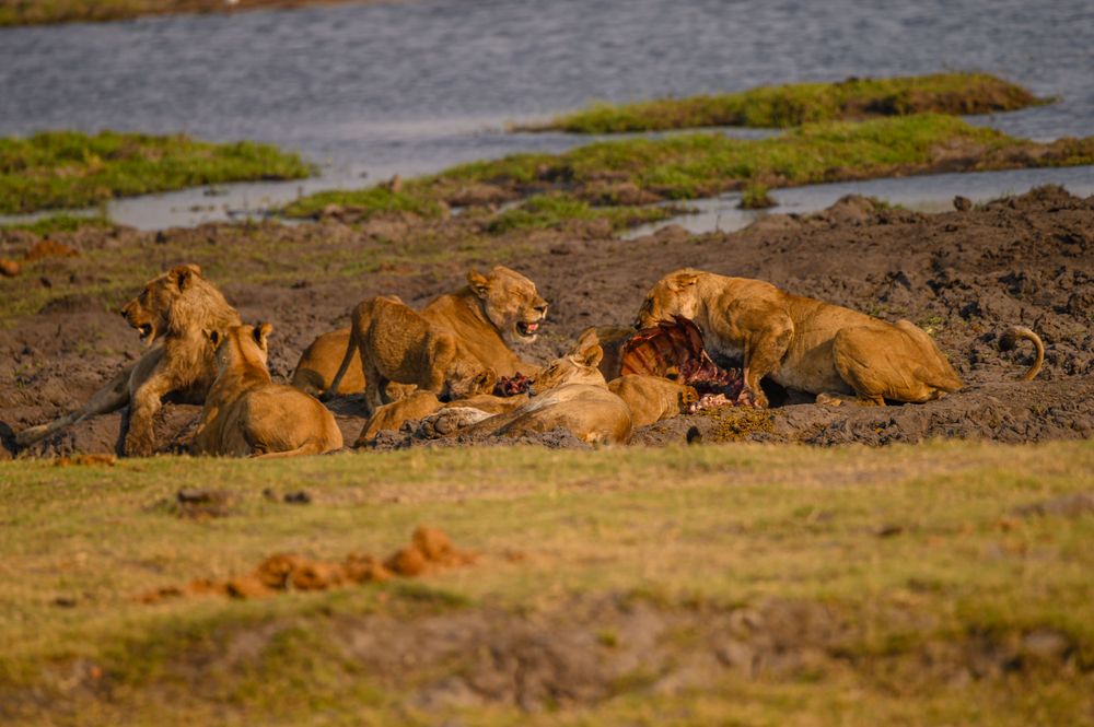
[{"label": "sunlit yellow-green grass filling the foreground below the lions", "polygon": [[[1092,472],[1090,443],[2,465],[0,717],[72,725],[435,724],[445,716],[469,725],[665,724],[670,716],[696,725],[1075,724],[1094,707],[1094,516],[1017,508],[1090,491]],[[181,519],[170,503],[184,486],[228,489],[237,508],[222,519]],[[261,494],[301,488],[311,505]],[[420,582],[257,601],[133,600],[195,577],[248,572],[272,552],[384,553],[418,523],[444,528],[482,561]],[[401,679],[376,673],[338,635],[370,615],[409,629],[479,609],[565,622],[559,610],[573,599],[609,594],[680,614],[771,598],[823,603],[856,635],[826,666],[799,676],[736,675],[673,692],[653,689],[638,669],[610,699],[534,715],[505,704],[423,711],[410,693],[449,667],[420,665],[411,668],[417,677]],[[596,623],[575,625],[604,648],[618,642]],[[990,653],[992,644],[1043,632],[1066,640],[1064,664],[967,683],[932,677],[944,645],[959,652],[984,643]],[[682,657],[699,647],[687,632],[664,638],[663,648]]]}]

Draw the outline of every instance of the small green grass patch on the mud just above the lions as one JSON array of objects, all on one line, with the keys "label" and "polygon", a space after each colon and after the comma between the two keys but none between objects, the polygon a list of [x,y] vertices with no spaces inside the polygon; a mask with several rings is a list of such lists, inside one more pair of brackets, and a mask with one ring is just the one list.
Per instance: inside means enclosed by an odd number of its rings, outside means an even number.
[{"label": "small green grass patch on the mud just above the lions", "polygon": [[668,207],[612,206],[592,207],[589,202],[563,194],[536,195],[496,215],[487,223],[491,234],[515,230],[559,228],[572,221],[607,220],[613,230],[667,220],[679,214]]}]

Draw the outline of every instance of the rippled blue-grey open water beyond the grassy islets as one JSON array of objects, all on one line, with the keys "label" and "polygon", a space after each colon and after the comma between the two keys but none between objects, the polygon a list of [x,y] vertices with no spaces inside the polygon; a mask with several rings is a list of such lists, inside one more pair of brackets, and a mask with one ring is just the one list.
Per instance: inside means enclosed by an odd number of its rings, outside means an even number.
[{"label": "rippled blue-grey open water beyond the grassy islets", "polygon": [[[587,139],[503,126],[597,98],[943,69],[988,70],[1060,97],[977,122],[1041,140],[1094,132],[1085,0],[428,0],[2,30],[0,134],[257,139],[323,165],[312,190],[562,151]],[[226,198],[186,192],[112,213],[188,223],[291,199],[298,187],[232,186]]]}]

